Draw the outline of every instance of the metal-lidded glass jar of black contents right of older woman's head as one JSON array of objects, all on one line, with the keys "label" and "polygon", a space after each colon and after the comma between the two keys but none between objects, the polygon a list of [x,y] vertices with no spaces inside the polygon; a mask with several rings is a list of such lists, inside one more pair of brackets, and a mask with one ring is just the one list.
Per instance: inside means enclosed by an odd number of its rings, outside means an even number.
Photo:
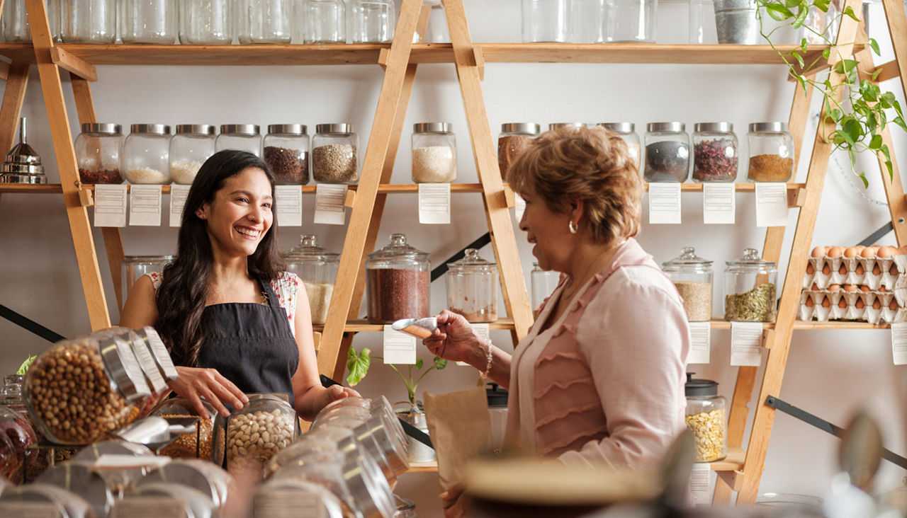
[{"label": "metal-lidded glass jar of black contents right of older woman's head", "polygon": [[689,136],[683,122],[649,122],[646,126],[647,182],[683,182],[689,175]]}]

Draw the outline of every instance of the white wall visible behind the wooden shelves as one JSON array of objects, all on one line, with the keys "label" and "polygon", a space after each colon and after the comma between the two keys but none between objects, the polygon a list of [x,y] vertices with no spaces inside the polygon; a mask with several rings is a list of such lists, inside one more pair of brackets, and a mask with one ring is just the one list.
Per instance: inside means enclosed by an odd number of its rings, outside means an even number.
[{"label": "white wall visible behind the wooden shelves", "polygon": [[[520,40],[520,10],[517,0],[483,2],[466,0],[466,10],[477,42]],[[686,7],[681,3],[662,5],[659,40],[682,41],[686,29]],[[885,46],[887,35],[875,24],[873,36]],[[682,33],[682,34],[681,34]],[[878,62],[890,59],[891,52]],[[122,123],[268,123],[302,122],[314,131],[319,122],[349,121],[356,124],[365,149],[371,129],[381,70],[375,65],[322,67],[99,67],[100,81],[93,84],[98,120]],[[793,83],[786,82],[784,69],[777,66],[691,66],[691,65],[591,65],[591,64],[489,64],[483,92],[489,121],[496,136],[502,122],[580,120],[601,122],[629,120],[644,131],[646,122],[683,120],[688,129],[699,121],[728,120],[741,139],[746,156],[746,125],[760,120],[787,120]],[[65,74],[64,74],[65,75]],[[886,88],[897,91],[899,82]],[[68,84],[64,85],[71,99]],[[902,100],[903,102],[903,100]],[[73,135],[78,124],[72,101],[67,109]],[[814,107],[814,112],[818,108]],[[29,82],[23,109],[29,118],[29,142],[44,158],[51,182],[59,176],[44,111],[37,74]],[[463,104],[453,65],[422,65],[417,75],[407,129],[398,155],[393,181],[409,183],[409,129],[419,121],[448,120],[459,139],[461,169],[458,181],[475,182]],[[814,127],[813,127],[814,128]],[[807,141],[812,142],[813,128]],[[897,134],[894,151],[907,156],[902,134]],[[805,175],[808,149],[800,164],[799,180]],[[846,157],[837,160],[846,164]],[[834,165],[829,168],[820,207],[814,245],[853,245],[883,225],[887,209],[856,192]],[[880,180],[870,160],[861,162],[872,182],[866,196],[883,199]],[[746,171],[746,160],[741,161]],[[743,176],[743,175],[741,175]],[[339,251],[344,231],[339,226],[313,225],[312,198],[307,197],[305,226],[280,229],[282,249],[297,244],[301,231],[315,233],[329,249]],[[684,195],[682,226],[644,225],[640,243],[659,262],[694,245],[697,253],[716,262],[715,298],[721,299],[719,281],[724,261],[738,256],[745,247],[761,248],[765,231],[755,226],[753,198],[737,197],[737,223],[708,226],[701,222],[701,197]],[[0,303],[71,336],[88,331],[89,324],[81,282],[75,264],[73,243],[59,195],[3,195],[0,203]],[[647,206],[644,206],[644,211]],[[166,211],[166,202],[165,202]],[[434,264],[459,250],[485,232],[482,203],[478,195],[453,197],[453,224],[414,224],[415,197],[395,195],[385,209],[379,245],[392,232],[405,232],[413,245],[431,254]],[[795,214],[792,212],[792,214]],[[647,218],[644,217],[644,220]],[[795,222],[792,216],[791,225]],[[785,250],[789,252],[792,232]],[[171,254],[175,251],[176,230],[168,227],[132,227],[122,231],[126,254]],[[530,247],[521,239],[521,261],[527,274],[532,267]],[[102,257],[102,276],[112,320],[117,321],[112,283],[103,261],[101,233],[94,232]],[[887,235],[883,244],[893,244]],[[491,250],[483,250],[491,257]],[[783,273],[786,262],[779,264]],[[433,311],[445,307],[444,284],[432,287]],[[646,308],[639,308],[640,312]],[[719,311],[719,310],[717,310]],[[494,334],[501,345],[509,341],[506,332]],[[729,332],[712,334],[712,363],[696,366],[697,376],[716,379],[729,398],[736,369],[728,367]],[[897,398],[896,381],[903,380],[904,368],[892,366],[889,331],[797,331],[787,364],[781,398],[836,424],[844,425],[856,408],[867,406],[882,425],[886,446],[904,453],[903,401]],[[44,350],[48,344],[15,325],[0,321],[0,372],[15,370],[26,354]],[[361,334],[354,346],[380,350],[380,335]],[[631,344],[628,344],[631,347]],[[426,351],[420,356],[429,360]],[[421,388],[443,392],[466,388],[474,383],[474,372],[452,366],[433,373]],[[405,398],[405,389],[390,369],[375,366],[359,387],[366,396],[386,394],[392,401]],[[903,387],[901,394],[904,393]],[[751,408],[753,405],[751,405]],[[812,427],[778,414],[766,458],[761,491],[824,494],[829,477],[836,470],[838,441]],[[883,466],[880,486],[901,484],[903,472]],[[434,495],[434,475],[405,475],[398,493],[415,498],[419,513],[439,513]]]}]

